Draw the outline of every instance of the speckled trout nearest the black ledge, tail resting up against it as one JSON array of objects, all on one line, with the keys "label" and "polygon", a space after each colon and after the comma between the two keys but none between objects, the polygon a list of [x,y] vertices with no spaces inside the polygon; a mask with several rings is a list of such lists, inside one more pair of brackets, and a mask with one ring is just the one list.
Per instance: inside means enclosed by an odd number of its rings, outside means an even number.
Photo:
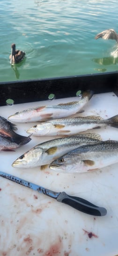
[{"label": "speckled trout nearest the black ledge, tail resting up against it", "polygon": [[8,117],[8,120],[25,123],[25,122],[37,122],[46,121],[54,118],[62,118],[72,116],[87,104],[87,102],[93,96],[93,91],[85,91],[82,94],[80,101],[72,101],[68,103],[61,103],[52,106],[40,106],[32,109],[25,109],[20,112],[16,112],[14,115]]}]

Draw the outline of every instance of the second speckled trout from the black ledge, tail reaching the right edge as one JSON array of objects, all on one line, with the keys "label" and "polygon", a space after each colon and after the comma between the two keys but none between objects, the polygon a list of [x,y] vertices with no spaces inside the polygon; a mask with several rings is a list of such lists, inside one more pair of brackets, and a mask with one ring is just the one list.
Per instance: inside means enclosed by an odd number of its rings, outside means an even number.
[{"label": "second speckled trout from the black ledge, tail reaching the right edge", "polygon": [[36,124],[27,130],[35,136],[73,135],[88,129],[101,128],[105,125],[118,128],[118,115],[109,119],[100,116],[79,116],[75,118],[54,119]]}]

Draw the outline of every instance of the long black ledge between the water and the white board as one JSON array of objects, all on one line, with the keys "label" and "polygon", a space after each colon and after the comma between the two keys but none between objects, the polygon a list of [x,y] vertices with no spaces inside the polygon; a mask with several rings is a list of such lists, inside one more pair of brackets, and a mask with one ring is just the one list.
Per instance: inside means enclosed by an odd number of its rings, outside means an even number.
[{"label": "long black ledge between the water and the white board", "polygon": [[74,97],[78,90],[87,89],[118,94],[118,72],[0,83],[0,106],[6,105],[7,99],[15,104],[44,101],[50,93],[59,99]]}]

